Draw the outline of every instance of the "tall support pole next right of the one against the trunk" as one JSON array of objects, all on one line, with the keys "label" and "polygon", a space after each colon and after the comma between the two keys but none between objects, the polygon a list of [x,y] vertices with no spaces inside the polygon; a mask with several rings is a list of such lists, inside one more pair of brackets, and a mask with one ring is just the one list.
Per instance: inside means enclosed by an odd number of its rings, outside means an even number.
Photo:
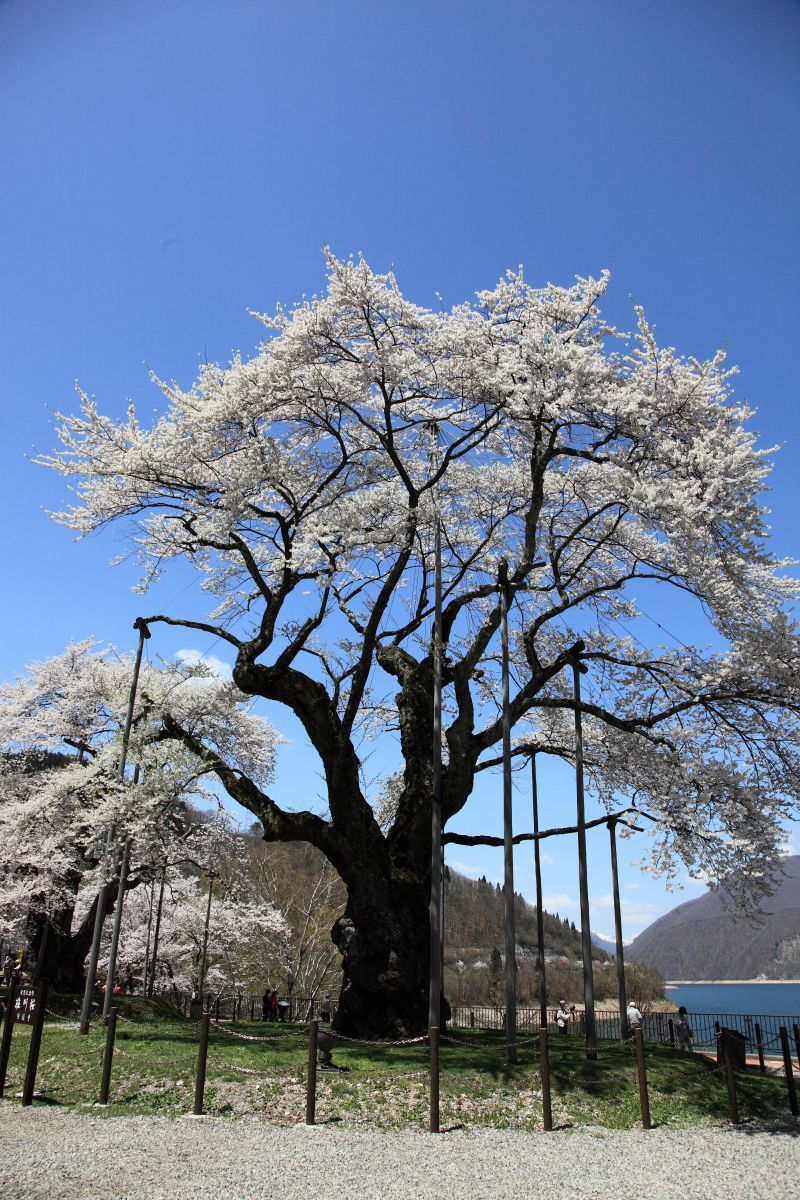
[{"label": "tall support pole next right of the one against the trunk", "polygon": [[511,701],[509,688],[509,565],[500,563],[501,691],[503,691],[503,899],[505,910],[506,1061],[517,1061],[517,936],[513,911],[513,821],[511,790]]}]

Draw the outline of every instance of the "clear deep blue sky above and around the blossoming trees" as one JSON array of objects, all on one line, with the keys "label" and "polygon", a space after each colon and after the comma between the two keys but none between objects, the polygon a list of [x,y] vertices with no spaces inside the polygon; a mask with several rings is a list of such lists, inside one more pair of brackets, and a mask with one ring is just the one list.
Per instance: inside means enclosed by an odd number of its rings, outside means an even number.
[{"label": "clear deep blue sky above and around the blossoming trees", "polygon": [[[199,604],[180,571],[132,594],[114,532],[76,545],[43,515],[64,499],[26,460],[54,444],[48,409],[71,410],[79,379],[108,412],[150,413],[145,365],[188,384],[201,356],[254,349],[247,310],[320,289],[326,242],[393,265],[421,304],[519,263],[534,283],[608,266],[612,320],[642,302],[662,342],[740,365],[763,444],[783,448],[775,550],[795,553],[799,50],[789,0],[0,0],[0,677]],[[313,792],[302,760],[282,752],[276,796]],[[561,823],[569,778],[552,768],[545,792]],[[465,824],[494,832],[500,803],[498,779]],[[528,828],[522,778],[517,809]],[[642,851],[621,854],[627,936],[702,890],[666,895],[630,865]],[[608,932],[604,832],[591,854]],[[573,919],[575,847],[548,856]],[[451,860],[501,871],[494,852]]]}]

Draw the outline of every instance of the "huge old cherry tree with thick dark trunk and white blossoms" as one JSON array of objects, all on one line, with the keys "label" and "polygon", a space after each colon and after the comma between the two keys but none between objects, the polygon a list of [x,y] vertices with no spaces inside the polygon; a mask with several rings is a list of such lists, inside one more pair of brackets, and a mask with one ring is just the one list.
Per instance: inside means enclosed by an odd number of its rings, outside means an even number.
[{"label": "huge old cherry tree with thick dark trunk and white blossoms", "polygon": [[[565,667],[579,643],[589,767],[601,799],[652,817],[654,862],[758,882],[798,796],[798,584],[766,547],[769,473],[724,354],[684,358],[601,317],[608,278],[420,307],[392,275],[329,254],[326,294],[259,319],[249,360],[156,380],[151,425],[80,392],[56,520],[122,523],[146,588],[192,564],[204,630],[242,692],[285,706],[319,757],[327,811],[288,811],[178,713],[169,736],[216,772],[267,840],[306,840],[348,906],[333,937],[345,1030],[426,1024],[434,528],[444,586],[445,821],[497,761],[498,569],[512,598],[517,754],[571,755]],[[702,644],[631,632],[645,589],[697,606]],[[360,749],[393,733],[402,786],[377,820]],[[445,840],[447,836],[445,835]]]}]

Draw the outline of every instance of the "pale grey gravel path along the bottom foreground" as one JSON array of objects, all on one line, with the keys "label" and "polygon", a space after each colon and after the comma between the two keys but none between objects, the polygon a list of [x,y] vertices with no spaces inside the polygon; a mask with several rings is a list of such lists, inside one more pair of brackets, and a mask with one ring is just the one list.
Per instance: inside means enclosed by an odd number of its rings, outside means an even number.
[{"label": "pale grey gravel path along the bottom foreground", "polygon": [[799,1178],[800,1124],[437,1136],[0,1105],[2,1200],[788,1200]]}]

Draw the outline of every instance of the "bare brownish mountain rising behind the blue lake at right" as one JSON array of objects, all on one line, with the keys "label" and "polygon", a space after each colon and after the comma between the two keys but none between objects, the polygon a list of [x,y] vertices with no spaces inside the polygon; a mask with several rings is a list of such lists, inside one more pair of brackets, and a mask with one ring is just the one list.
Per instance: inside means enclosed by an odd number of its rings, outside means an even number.
[{"label": "bare brownish mountain rising behind the blue lake at right", "polygon": [[726,893],[706,892],[648,925],[627,949],[666,979],[800,978],[800,856],[782,859],[786,877],[747,917]]}]

